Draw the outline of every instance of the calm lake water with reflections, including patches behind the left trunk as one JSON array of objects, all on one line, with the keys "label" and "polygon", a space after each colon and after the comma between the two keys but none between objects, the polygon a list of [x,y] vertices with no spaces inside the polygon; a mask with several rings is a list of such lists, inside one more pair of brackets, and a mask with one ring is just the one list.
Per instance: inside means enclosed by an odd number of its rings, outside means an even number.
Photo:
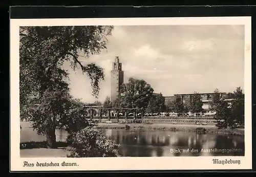
[{"label": "calm lake water with reflections, including patches behind the left trunk", "polygon": [[[103,129],[103,134],[121,144],[119,153],[125,157],[167,156],[244,156],[244,137],[231,135],[197,134],[196,132],[174,132],[161,130]],[[65,141],[67,132],[56,130],[57,141]],[[20,142],[44,141],[32,128],[20,130]],[[180,152],[171,152],[180,149]],[[201,150],[215,152],[201,152]],[[237,150],[222,152],[221,150]],[[238,150],[240,152],[238,152]]]}]

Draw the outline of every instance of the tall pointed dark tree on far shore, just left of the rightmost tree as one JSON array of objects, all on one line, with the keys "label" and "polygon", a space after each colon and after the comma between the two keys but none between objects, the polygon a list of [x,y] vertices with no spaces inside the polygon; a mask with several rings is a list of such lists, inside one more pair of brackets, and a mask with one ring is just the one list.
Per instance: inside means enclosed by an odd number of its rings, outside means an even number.
[{"label": "tall pointed dark tree on far shore, just left of the rightmost tree", "polygon": [[214,115],[214,118],[217,121],[216,126],[219,128],[227,128],[231,124],[230,108],[228,108],[227,102],[221,96],[218,89],[214,91],[211,98],[211,101],[209,101],[209,110],[211,112],[216,112]]}]

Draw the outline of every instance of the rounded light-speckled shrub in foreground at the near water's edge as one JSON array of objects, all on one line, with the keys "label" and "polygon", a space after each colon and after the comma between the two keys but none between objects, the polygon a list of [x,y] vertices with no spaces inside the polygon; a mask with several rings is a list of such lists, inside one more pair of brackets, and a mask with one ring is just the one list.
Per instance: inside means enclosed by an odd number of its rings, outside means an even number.
[{"label": "rounded light-speckled shrub in foreground at the near water's edge", "polygon": [[69,157],[118,157],[119,144],[109,140],[102,134],[91,128],[86,127],[77,132],[73,132],[68,137],[71,144],[71,154]]}]

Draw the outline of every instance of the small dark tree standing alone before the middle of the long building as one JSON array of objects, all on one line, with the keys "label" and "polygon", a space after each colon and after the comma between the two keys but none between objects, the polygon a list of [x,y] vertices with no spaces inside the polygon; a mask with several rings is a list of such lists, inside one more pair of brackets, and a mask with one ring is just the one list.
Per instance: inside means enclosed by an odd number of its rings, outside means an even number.
[{"label": "small dark tree standing alone before the middle of the long building", "polygon": [[189,110],[191,113],[196,113],[196,117],[198,114],[203,110],[202,108],[203,102],[201,100],[201,97],[199,93],[194,92],[193,95],[190,97],[190,103],[189,103]]}]

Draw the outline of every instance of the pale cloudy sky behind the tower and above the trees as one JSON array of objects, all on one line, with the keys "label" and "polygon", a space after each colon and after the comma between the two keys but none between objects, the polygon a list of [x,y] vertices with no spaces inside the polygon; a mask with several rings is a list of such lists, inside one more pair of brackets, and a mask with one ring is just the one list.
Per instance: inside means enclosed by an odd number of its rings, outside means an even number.
[{"label": "pale cloudy sky behind the tower and above the trees", "polygon": [[98,99],[92,96],[90,80],[80,70],[70,73],[71,94],[91,103],[110,96],[110,74],[119,56],[124,82],[130,77],[151,84],[163,96],[193,92],[233,92],[244,87],[244,26],[114,26],[107,49],[83,64],[94,62],[104,69]]}]

